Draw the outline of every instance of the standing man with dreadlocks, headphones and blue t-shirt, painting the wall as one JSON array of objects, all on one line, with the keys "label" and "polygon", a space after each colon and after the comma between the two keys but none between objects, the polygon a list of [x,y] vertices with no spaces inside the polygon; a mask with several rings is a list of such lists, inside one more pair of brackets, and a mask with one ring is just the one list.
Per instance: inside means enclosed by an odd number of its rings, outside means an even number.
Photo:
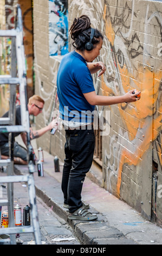
[{"label": "standing man with dreadlocks, headphones and blue t-shirt, painting the wall", "polygon": [[98,29],[91,28],[86,15],[75,18],[69,31],[75,50],[62,58],[57,74],[60,118],[66,132],[62,191],[64,207],[69,209],[68,218],[92,221],[98,217],[87,210],[89,205],[82,202],[81,191],[93,161],[95,105],[134,102],[140,92],[132,94],[131,90],[122,96],[96,95],[91,74],[101,70],[101,76],[106,70],[102,62],[93,62],[100,54],[103,36]]}]

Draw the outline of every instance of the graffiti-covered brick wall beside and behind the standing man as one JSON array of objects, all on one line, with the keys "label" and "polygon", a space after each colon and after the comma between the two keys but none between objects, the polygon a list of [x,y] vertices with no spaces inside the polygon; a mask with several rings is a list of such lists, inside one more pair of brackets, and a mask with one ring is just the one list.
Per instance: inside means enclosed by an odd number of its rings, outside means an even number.
[{"label": "graffiti-covered brick wall beside and behind the standing man", "polygon": [[[133,88],[141,91],[138,102],[102,108],[104,116],[110,111],[110,131],[102,136],[104,186],[148,220],[155,215],[159,223],[162,220],[161,7],[160,1],[68,1],[69,26],[74,17],[87,14],[92,27],[104,36],[98,60],[105,63],[106,72],[100,79],[94,75],[96,92],[109,96],[122,95]],[[36,93],[46,100],[42,116],[37,118],[38,127],[48,123],[58,104],[56,76],[61,57],[49,56],[48,11],[48,1],[34,1]],[[63,160],[63,131],[38,139],[38,145]],[[152,190],[153,184],[156,191]]]}]

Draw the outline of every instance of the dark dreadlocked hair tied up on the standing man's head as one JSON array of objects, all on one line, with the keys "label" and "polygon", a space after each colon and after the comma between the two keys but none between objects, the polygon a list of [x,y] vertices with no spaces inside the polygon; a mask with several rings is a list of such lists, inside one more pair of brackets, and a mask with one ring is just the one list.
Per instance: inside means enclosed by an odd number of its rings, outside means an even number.
[{"label": "dark dreadlocked hair tied up on the standing man's head", "polygon": [[[87,15],[82,15],[79,18],[75,18],[69,31],[71,38],[74,40],[72,45],[76,50],[84,51],[85,45],[90,41],[91,27],[90,19]],[[92,44],[98,44],[100,38],[103,39],[102,34],[95,29]]]}]

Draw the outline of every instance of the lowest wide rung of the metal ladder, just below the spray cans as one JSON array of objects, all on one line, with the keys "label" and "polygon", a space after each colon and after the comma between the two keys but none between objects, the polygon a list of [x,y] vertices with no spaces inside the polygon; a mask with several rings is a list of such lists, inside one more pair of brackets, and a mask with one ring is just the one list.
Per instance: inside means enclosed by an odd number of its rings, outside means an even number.
[{"label": "lowest wide rung of the metal ladder, just below the spray cans", "polygon": [[0,228],[0,235],[20,234],[20,233],[34,233],[34,228],[33,226],[24,227],[23,225],[21,227]]}]

